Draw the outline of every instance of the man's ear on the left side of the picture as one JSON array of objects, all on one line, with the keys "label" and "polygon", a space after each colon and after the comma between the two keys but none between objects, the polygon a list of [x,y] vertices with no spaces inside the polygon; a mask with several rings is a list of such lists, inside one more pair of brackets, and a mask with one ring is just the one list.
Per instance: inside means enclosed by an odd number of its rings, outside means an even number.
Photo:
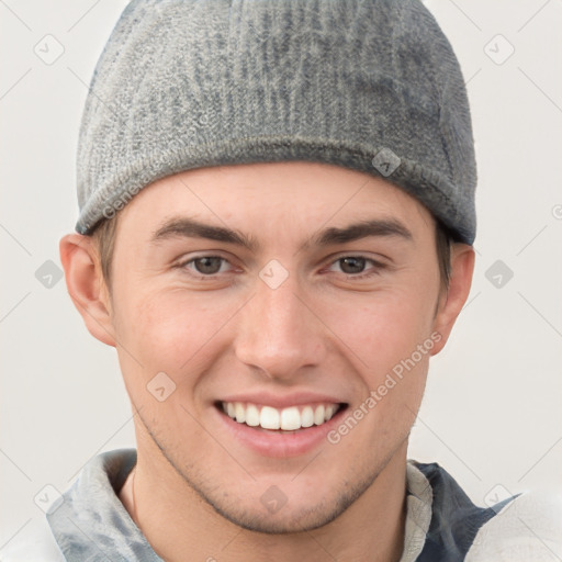
[{"label": "man's ear on the left side of the picture", "polygon": [[88,331],[115,347],[109,290],[92,237],[68,234],[60,239],[59,249],[68,293]]}]

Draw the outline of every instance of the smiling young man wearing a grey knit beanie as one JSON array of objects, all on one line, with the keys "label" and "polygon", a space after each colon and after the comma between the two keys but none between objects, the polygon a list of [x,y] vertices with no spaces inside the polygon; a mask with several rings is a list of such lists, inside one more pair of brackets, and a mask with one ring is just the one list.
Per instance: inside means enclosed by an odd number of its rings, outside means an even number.
[{"label": "smiling young man wearing a grey knit beanie", "polygon": [[406,458],[474,267],[467,94],[423,4],[134,1],[78,176],[67,286],[137,448],[92,459],[21,560],[560,552],[555,505],[477,507]]}]

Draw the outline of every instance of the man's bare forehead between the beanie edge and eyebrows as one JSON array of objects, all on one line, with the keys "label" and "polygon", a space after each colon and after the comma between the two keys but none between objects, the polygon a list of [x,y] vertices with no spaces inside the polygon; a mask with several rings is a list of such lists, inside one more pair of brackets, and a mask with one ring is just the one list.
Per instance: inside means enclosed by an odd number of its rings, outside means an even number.
[{"label": "man's bare forehead between the beanie edge and eyebrows", "polygon": [[[260,162],[189,170],[144,188],[121,213],[156,233],[172,218],[268,228],[316,229],[353,221],[396,220],[432,227],[429,211],[387,180],[319,162]],[[121,222],[121,220],[120,220]]]}]

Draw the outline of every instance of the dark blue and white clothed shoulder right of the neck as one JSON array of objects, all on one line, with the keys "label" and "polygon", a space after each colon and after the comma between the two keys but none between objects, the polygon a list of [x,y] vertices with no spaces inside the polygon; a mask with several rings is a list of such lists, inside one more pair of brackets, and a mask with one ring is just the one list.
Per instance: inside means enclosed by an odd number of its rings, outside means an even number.
[{"label": "dark blue and white clothed shoulder right of the neck", "polygon": [[[408,493],[431,509],[430,522],[424,527],[425,544],[416,560],[562,560],[560,494],[528,492],[480,507],[445,469],[416,461],[408,465],[407,483]],[[423,498],[419,491],[424,490],[430,491],[430,497]]]}]

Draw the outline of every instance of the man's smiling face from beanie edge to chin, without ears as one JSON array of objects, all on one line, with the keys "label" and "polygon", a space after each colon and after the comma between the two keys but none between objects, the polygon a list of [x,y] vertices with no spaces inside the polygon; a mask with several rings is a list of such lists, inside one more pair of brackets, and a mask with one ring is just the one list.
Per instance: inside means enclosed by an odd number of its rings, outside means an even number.
[{"label": "man's smiling face from beanie edge to chin, without ears", "polygon": [[439,286],[430,214],[382,179],[282,162],[154,183],[121,213],[111,284],[139,456],[243,527],[333,520],[405,454]]}]

